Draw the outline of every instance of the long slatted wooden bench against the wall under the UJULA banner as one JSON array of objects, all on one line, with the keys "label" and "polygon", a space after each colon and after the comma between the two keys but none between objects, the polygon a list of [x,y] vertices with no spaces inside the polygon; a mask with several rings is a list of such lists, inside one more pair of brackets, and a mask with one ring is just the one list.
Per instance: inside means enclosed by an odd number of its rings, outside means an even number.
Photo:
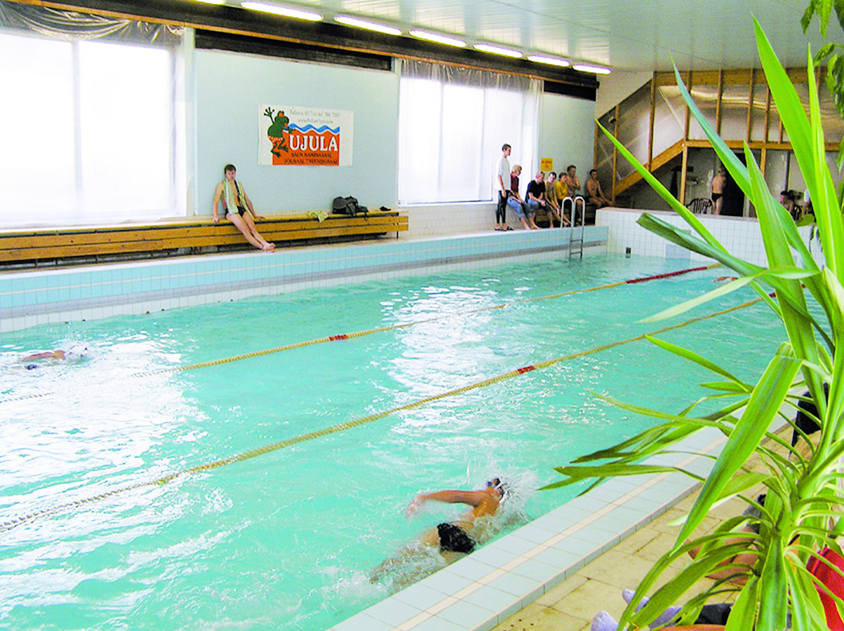
[{"label": "long slatted wooden bench against the wall under the UJULA banner", "polygon": [[[298,242],[376,238],[408,229],[407,215],[397,211],[371,212],[368,216],[328,215],[320,221],[306,215],[259,219],[258,232],[276,245]],[[113,257],[156,252],[191,254],[211,246],[252,245],[230,222],[214,224],[210,218],[156,224],[118,224],[54,229],[0,230],[0,263],[61,260],[77,257]],[[68,259],[71,259],[68,261]]]}]

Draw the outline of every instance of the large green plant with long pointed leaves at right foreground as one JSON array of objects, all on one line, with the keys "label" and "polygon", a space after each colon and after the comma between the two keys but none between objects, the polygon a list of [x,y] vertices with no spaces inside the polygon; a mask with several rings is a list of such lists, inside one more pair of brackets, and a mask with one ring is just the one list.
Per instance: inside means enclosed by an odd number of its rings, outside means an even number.
[{"label": "large green plant with long pointed leaves at right foreground", "polygon": [[[717,413],[696,415],[695,404],[679,414],[666,414],[641,407],[628,407],[631,411],[647,413],[664,422],[647,429],[630,440],[609,450],[600,450],[583,456],[571,465],[557,467],[564,479],[546,488],[557,488],[585,479],[636,475],[642,472],[674,471],[671,467],[653,467],[641,464],[642,459],[672,450],[672,445],[701,427],[715,427],[727,437],[720,456],[703,483],[701,493],[690,514],[680,528],[674,547],[663,555],[641,581],[636,596],[623,614],[619,628],[644,625],[663,612],[668,606],[682,600],[682,596],[698,580],[727,563],[733,579],[744,579],[744,585],[731,586],[726,581],[717,582],[700,596],[692,598],[684,607],[681,623],[694,621],[703,604],[716,593],[738,590],[738,597],[730,614],[727,629],[783,629],[790,614],[795,629],[826,628],[824,607],[819,595],[820,581],[807,569],[811,559],[825,564],[830,571],[841,574],[834,564],[820,558],[819,551],[831,548],[841,554],[833,538],[844,529],[841,510],[844,510],[844,493],[838,482],[841,457],[844,456],[844,225],[841,221],[841,202],[836,196],[830,171],[825,161],[825,143],[820,127],[818,89],[814,82],[814,64],[809,58],[810,116],[806,115],[798,94],[776,59],[771,44],[760,25],[755,23],[757,46],[766,73],[771,94],[776,100],[782,123],[786,128],[800,170],[809,188],[814,204],[820,241],[826,256],[825,267],[819,267],[798,234],[793,219],[768,191],[764,177],[749,148],[745,144],[747,166],[717,137],[701,111],[691,100],[677,73],[678,85],[697,121],[706,131],[722,164],[728,169],[738,186],[754,204],[764,240],[767,267],[760,267],[731,255],[690,213],[674,199],[645,167],[612,139],[619,152],[636,166],[641,175],[665,199],[675,212],[690,225],[695,235],[663,222],[648,213],[642,214],[638,223],[658,235],[682,245],[690,251],[710,256],[730,267],[738,278],[702,298],[678,305],[654,319],[677,315],[707,299],[714,299],[736,289],[750,286],[766,300],[771,310],[782,319],[787,339],[771,358],[764,373],[755,384],[747,384],[735,377],[729,369],[684,348],[657,339],[651,341],[671,353],[676,353],[695,364],[700,364],[718,375],[718,381],[705,384],[714,390],[713,400],[729,397],[731,402]],[[603,127],[602,127],[603,129]],[[793,253],[799,259],[796,262]],[[774,297],[769,296],[770,289]],[[808,292],[820,305],[822,315],[815,318],[807,305]],[[793,387],[808,389],[809,397],[817,405],[817,422],[820,440],[801,455],[786,441],[769,433],[771,423],[782,415],[784,402],[797,406],[800,396],[793,394]],[[829,388],[828,397],[824,394]],[[621,404],[623,407],[624,404]],[[790,422],[790,421],[789,421]],[[787,457],[771,449],[763,441],[768,437],[787,451]],[[805,439],[805,434],[803,434]],[[766,465],[766,472],[752,472],[746,462],[758,455]],[[750,488],[762,484],[766,488],[764,505],[746,497]],[[737,532],[748,520],[738,515],[725,521],[716,531],[704,537],[694,537],[701,520],[722,499],[738,495],[761,511],[760,531]],[[743,540],[736,542],[736,540]],[[650,594],[668,565],[684,557],[692,547],[701,552],[676,577],[651,595],[650,601],[639,612],[637,605],[642,596]],[[731,560],[737,553],[750,553],[755,560],[747,565],[734,565]],[[828,591],[820,585],[820,591]],[[830,601],[838,607],[844,602],[837,596]]]}]

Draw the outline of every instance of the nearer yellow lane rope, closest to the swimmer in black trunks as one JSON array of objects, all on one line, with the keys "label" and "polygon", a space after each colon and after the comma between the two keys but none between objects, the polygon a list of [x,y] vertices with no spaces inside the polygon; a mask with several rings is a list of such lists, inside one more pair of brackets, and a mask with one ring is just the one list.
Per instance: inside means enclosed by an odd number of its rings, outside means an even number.
[{"label": "nearer yellow lane rope, closest to the swimmer in black trunks", "polygon": [[308,432],[306,434],[300,434],[299,436],[295,436],[294,438],[289,438],[286,440],[279,440],[275,443],[270,443],[269,445],[263,445],[262,447],[257,447],[257,449],[252,449],[248,451],[243,451],[239,454],[235,454],[235,456],[229,456],[227,458],[223,458],[222,460],[217,460],[213,462],[206,462],[203,465],[197,465],[196,467],[188,467],[186,469],[181,469],[180,471],[168,473],[165,476],[157,477],[154,480],[149,480],[147,482],[139,482],[130,484],[125,487],[116,488],[111,491],[106,491],[106,493],[100,493],[99,495],[94,495],[89,498],[85,499],[78,499],[73,502],[68,502],[67,504],[60,504],[57,506],[53,506],[51,508],[43,509],[43,510],[36,510],[34,513],[30,513],[29,515],[21,515],[16,517],[12,520],[4,521],[0,523],[0,532],[8,531],[14,528],[15,526],[21,526],[25,523],[28,523],[31,520],[35,520],[40,517],[46,517],[49,515],[56,515],[68,509],[73,508],[80,508],[84,507],[86,504],[91,504],[93,502],[98,502],[102,499],[108,499],[118,495],[120,493],[127,493],[127,491],[132,491],[137,488],[143,487],[151,487],[155,485],[163,485],[175,480],[178,477],[185,477],[188,475],[192,475],[193,473],[202,473],[208,472],[212,469],[217,469],[219,467],[225,467],[225,465],[230,465],[235,462],[241,462],[245,460],[249,460],[251,458],[255,458],[256,456],[263,456],[264,454],[271,453],[273,451],[278,451],[284,449],[285,447],[290,447],[293,445],[299,445],[300,443],[307,442],[308,440],[315,440],[317,438],[321,438],[322,436],[327,436],[329,434],[338,434],[339,432],[344,432],[347,429],[353,429],[360,425],[365,425],[366,423],[372,423],[380,418],[385,418],[390,416],[391,414],[402,412],[403,410],[413,410],[418,407],[422,407],[427,403],[432,403],[439,401],[441,399],[445,399],[449,396],[456,396],[459,394],[463,394],[468,391],[477,390],[479,388],[484,388],[486,386],[491,386],[493,384],[499,383],[500,381],[513,379],[514,377],[518,377],[520,375],[525,375],[529,372],[533,372],[534,370],[548,368],[549,366],[553,366],[555,364],[561,364],[565,361],[569,361],[570,359],[577,359],[580,357],[586,357],[587,355],[592,355],[594,353],[600,353],[601,351],[607,350],[609,348],[615,348],[617,346],[622,346],[624,344],[629,344],[631,342],[638,342],[639,340],[645,339],[646,336],[655,336],[659,335],[664,332],[673,331],[674,329],[682,328],[683,326],[689,326],[690,324],[694,324],[695,322],[700,322],[704,320],[709,320],[710,318],[717,317],[718,315],[725,315],[732,311],[736,311],[739,309],[744,309],[745,307],[749,307],[750,305],[755,305],[756,303],[760,302],[761,299],[757,298],[754,300],[749,300],[748,302],[742,303],[741,305],[735,305],[729,307],[728,309],[715,311],[714,313],[707,314],[707,315],[700,315],[696,318],[692,318],[691,320],[687,320],[684,322],[679,322],[679,324],[674,324],[671,326],[665,326],[661,329],[657,329],[656,331],[652,331],[649,333],[642,333],[641,335],[637,335],[636,337],[629,337],[625,340],[621,340],[619,342],[610,342],[609,344],[602,344],[601,346],[596,346],[594,348],[589,348],[588,350],[581,351],[579,353],[571,353],[568,355],[563,355],[561,357],[555,359],[548,359],[544,362],[538,362],[537,364],[530,364],[528,366],[522,366],[522,368],[517,368],[515,370],[511,370],[510,372],[503,373],[502,375],[496,375],[495,377],[490,377],[489,379],[484,379],[481,381],[476,381],[472,384],[468,384],[468,386],[462,386],[459,388],[455,388],[454,390],[441,392],[441,394],[434,395],[434,396],[426,396],[424,399],[419,399],[414,402],[405,403],[404,405],[398,407],[392,407],[389,410],[385,410],[383,412],[370,414],[369,416],[356,418],[352,421],[347,421],[346,423],[338,423],[337,425],[332,425],[331,427],[327,427],[324,429],[318,429],[315,432]]}]

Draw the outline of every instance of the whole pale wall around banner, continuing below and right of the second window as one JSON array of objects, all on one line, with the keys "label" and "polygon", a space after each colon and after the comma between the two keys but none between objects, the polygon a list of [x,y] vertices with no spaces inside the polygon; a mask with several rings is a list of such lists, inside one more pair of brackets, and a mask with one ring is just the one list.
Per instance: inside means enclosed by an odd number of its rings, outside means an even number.
[{"label": "whole pale wall around banner, continuing below and right of the second window", "polygon": [[[327,210],[338,195],[354,195],[370,208],[397,208],[398,76],[384,71],[337,67],[221,51],[197,50],[195,76],[195,213],[211,212],[223,166],[235,164],[238,179],[258,212]],[[258,105],[300,105],[354,111],[354,155],[350,167],[259,166]],[[594,103],[542,94],[538,155],[553,158],[555,170],[576,164],[581,181],[592,168]],[[526,165],[526,169],[527,169]],[[529,175],[522,175],[522,189]],[[523,191],[522,191],[523,192]],[[403,238],[491,230],[495,205],[430,204],[402,207],[408,213]],[[512,210],[509,223],[521,229]]]}]

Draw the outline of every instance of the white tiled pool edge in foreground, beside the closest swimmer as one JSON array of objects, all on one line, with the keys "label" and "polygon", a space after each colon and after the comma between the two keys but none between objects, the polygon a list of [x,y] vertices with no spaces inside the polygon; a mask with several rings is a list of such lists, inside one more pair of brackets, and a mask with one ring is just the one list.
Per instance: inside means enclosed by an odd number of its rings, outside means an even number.
[{"label": "white tiled pool edge in foreground, beside the closest swimmer", "polygon": [[[781,411],[791,415],[793,408]],[[780,428],[782,421],[771,425]],[[644,463],[706,477],[726,442],[717,429],[700,429],[675,453]],[[679,472],[613,478],[329,631],[489,631],[699,486]]]}]

